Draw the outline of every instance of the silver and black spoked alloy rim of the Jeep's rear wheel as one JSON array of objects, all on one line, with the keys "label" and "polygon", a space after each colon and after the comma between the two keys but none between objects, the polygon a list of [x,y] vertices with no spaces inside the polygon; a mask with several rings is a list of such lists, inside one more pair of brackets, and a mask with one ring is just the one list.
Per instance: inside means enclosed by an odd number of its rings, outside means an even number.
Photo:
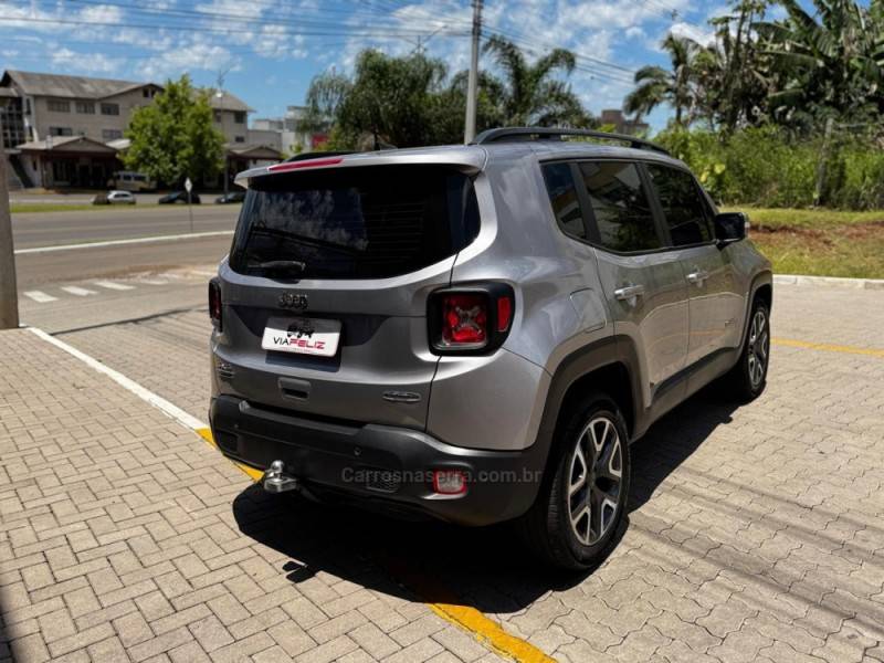
[{"label": "silver and black spoked alloy rim of the Jeep's rear wheel", "polygon": [[596,417],[578,435],[568,472],[568,515],[585,546],[597,544],[615,522],[622,483],[620,433],[608,415]]}]

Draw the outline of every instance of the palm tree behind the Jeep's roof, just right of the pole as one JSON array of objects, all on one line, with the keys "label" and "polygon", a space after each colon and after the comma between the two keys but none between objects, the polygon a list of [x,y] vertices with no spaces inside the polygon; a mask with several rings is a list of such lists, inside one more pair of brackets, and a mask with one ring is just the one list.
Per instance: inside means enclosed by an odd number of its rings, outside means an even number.
[{"label": "palm tree behind the Jeep's roof, just right of the pole", "polygon": [[570,74],[577,62],[573,53],[555,49],[529,64],[513,42],[492,36],[484,48],[504,74],[504,80],[486,74],[480,81],[496,106],[499,123],[508,126],[587,126],[592,118],[570,85],[556,74]]}]

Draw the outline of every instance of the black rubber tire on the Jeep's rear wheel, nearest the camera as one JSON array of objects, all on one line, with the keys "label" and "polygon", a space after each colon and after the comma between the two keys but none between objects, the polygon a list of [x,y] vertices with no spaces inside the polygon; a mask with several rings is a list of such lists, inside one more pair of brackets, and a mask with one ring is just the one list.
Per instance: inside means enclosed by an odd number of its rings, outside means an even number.
[{"label": "black rubber tire on the Jeep's rear wheel, nearest the camera", "polygon": [[[602,422],[608,422],[611,428],[606,428]],[[629,434],[617,403],[601,393],[588,394],[568,408],[562,412],[560,423],[549,456],[547,477],[534,506],[517,522],[517,529],[532,551],[546,564],[568,570],[586,570],[601,562],[613,547],[627,511],[630,484]],[[596,451],[596,443],[590,436],[590,424],[594,439],[601,438],[600,452]],[[611,436],[612,432],[617,433],[615,439]],[[613,451],[614,442],[619,444],[619,454]],[[576,460],[578,443],[586,450],[585,456],[591,451],[596,457],[591,461],[586,459],[587,481],[583,488],[575,491],[569,498],[570,486],[579,483],[575,482],[580,474],[579,461]],[[608,454],[612,456],[608,460],[608,467],[600,469],[597,461],[609,451],[613,453]],[[618,486],[613,485],[611,469],[619,469]],[[615,498],[612,497],[614,490]],[[607,498],[600,501],[600,495],[607,495]],[[596,519],[603,524],[600,533],[598,525],[594,532],[590,528],[593,523],[591,512],[589,516],[581,516],[576,525],[571,524],[571,514],[580,513],[581,501],[585,498],[587,502],[582,504],[582,508],[599,507],[599,517]],[[611,501],[615,503],[613,513]],[[585,532],[588,536],[581,540],[578,532]]]}]

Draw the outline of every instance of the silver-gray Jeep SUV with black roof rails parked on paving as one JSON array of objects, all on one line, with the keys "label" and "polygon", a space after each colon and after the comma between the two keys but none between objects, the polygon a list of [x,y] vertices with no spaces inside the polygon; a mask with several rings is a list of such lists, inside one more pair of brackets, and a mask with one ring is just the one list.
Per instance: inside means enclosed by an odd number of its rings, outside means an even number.
[{"label": "silver-gray Jeep SUV with black roof rails parked on paving", "polygon": [[513,520],[587,568],[627,508],[629,444],[713,380],[765,388],[770,263],[650,143],[493,129],[238,181],[210,417],[266,490]]}]

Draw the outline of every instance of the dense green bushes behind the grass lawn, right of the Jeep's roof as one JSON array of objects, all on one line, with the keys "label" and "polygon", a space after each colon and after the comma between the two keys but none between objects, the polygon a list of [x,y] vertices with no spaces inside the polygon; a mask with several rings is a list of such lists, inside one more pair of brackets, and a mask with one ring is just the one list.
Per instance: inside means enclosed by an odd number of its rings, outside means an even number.
[{"label": "dense green bushes behind the grass lawn, right of the Jeep's roof", "polygon": [[[766,126],[729,137],[667,129],[656,140],[685,161],[719,202],[767,208],[814,203],[822,137],[802,139]],[[822,204],[855,210],[884,207],[884,150],[866,137],[840,136],[825,151]]]}]

